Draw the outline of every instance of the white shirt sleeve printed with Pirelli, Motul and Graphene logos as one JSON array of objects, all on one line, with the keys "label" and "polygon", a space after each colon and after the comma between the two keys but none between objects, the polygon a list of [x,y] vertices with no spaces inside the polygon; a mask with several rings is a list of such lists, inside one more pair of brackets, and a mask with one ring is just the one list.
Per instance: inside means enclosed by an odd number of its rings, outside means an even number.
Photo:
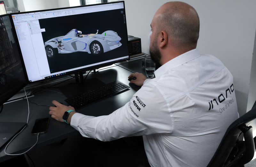
[{"label": "white shirt sleeve printed with Pirelli, Motul and Graphene logos", "polygon": [[154,84],[143,85],[132,99],[110,115],[86,116],[76,113],[71,126],[82,136],[111,141],[126,136],[171,133],[170,109]]}]

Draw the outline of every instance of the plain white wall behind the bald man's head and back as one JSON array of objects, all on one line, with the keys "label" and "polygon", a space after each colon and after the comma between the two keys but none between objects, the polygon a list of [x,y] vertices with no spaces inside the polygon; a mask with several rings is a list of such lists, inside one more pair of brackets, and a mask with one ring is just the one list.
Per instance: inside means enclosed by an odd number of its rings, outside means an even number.
[{"label": "plain white wall behind the bald man's head and back", "polygon": [[[148,33],[156,10],[167,0],[124,0],[128,34],[141,38],[148,53]],[[246,113],[256,28],[255,0],[183,0],[200,18],[197,48],[219,58],[234,76],[239,114]]]}]

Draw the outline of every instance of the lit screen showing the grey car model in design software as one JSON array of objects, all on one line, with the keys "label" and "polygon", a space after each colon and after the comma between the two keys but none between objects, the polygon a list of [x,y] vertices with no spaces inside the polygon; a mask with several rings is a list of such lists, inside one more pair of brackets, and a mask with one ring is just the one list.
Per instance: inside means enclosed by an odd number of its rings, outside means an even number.
[{"label": "lit screen showing the grey car model in design software", "polygon": [[29,82],[129,59],[124,2],[12,14]]}]

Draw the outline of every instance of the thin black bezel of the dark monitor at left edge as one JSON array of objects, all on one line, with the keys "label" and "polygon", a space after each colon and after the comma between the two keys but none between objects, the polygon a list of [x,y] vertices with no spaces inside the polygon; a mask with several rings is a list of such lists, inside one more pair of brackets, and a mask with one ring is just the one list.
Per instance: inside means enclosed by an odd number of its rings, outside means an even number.
[{"label": "thin black bezel of the dark monitor at left edge", "polygon": [[[10,18],[10,20],[12,20],[12,16],[11,16],[11,14],[3,14],[3,15],[0,15],[0,17],[5,17],[5,16],[9,16],[9,18]],[[13,21],[10,21],[11,22],[11,24],[12,24],[12,28],[13,28],[13,31],[15,31],[15,28],[14,28],[14,24],[13,24]],[[16,31],[15,31],[16,32]],[[16,91],[16,93],[17,92],[19,92],[22,88],[24,88],[26,85],[28,85],[28,75],[27,75],[27,71],[26,71],[26,68],[25,68],[25,65],[24,65],[24,60],[23,60],[23,57],[22,57],[22,55],[21,55],[21,50],[20,50],[20,44],[19,44],[19,42],[18,42],[18,38],[17,38],[17,36],[16,36],[16,33],[14,33],[13,32],[13,38],[15,38],[15,40],[16,40],[16,43],[17,43],[17,46],[18,46],[18,52],[20,53],[20,60],[21,60],[21,65],[22,65],[22,68],[23,68],[23,72],[24,72],[24,76],[26,77],[26,83],[24,83],[22,86],[20,86],[20,87],[18,87],[18,91]],[[15,94],[16,94],[15,93]],[[15,94],[13,94],[12,96],[14,96]],[[11,96],[11,97],[12,97]],[[8,97],[8,98],[3,98],[4,100],[4,102],[3,102],[3,104],[8,100],[8,99],[10,99],[11,97]],[[0,106],[1,105],[3,105],[3,104],[1,104],[1,102],[0,102]]]}]

